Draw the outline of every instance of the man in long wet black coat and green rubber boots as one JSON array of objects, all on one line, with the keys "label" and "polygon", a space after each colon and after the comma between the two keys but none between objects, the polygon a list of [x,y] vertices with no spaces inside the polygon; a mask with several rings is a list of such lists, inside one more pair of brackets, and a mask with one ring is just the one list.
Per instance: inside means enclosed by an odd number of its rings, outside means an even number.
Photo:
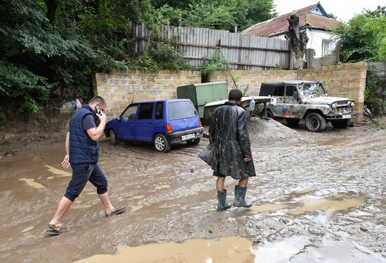
[{"label": "man in long wet black coat and green rubber boots", "polygon": [[239,180],[234,187],[234,206],[250,208],[245,201],[248,178],[256,176],[253,165],[251,142],[248,135],[246,112],[240,106],[243,93],[239,89],[229,92],[228,102],[215,109],[209,127],[211,144],[211,168],[217,178],[218,211],[230,208],[226,202],[225,177]]}]

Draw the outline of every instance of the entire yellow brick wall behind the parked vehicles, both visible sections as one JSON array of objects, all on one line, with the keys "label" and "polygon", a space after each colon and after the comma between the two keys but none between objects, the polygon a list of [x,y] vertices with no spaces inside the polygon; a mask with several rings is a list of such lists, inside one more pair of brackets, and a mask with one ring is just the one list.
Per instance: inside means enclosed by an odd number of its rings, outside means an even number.
[{"label": "entire yellow brick wall behind the parked vehicles, both visible sections", "polygon": [[[311,80],[320,81],[329,96],[349,97],[356,102],[358,119],[363,119],[364,89],[366,87],[366,62],[347,63],[303,70],[235,70],[232,71],[239,88],[246,95],[259,95],[260,85],[265,81]],[[233,88],[229,72],[215,72],[211,81],[227,81]],[[119,116],[132,101],[164,100],[177,97],[177,87],[189,83],[201,83],[201,72],[157,73],[140,70],[112,70],[111,73],[96,73],[94,94],[105,97],[109,119]]]}]

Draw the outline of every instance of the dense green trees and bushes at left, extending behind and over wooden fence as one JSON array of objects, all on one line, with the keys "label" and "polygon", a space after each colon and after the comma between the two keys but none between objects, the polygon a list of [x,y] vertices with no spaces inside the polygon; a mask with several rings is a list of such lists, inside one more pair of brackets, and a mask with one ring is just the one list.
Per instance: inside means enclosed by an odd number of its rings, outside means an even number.
[{"label": "dense green trees and bushes at left, extending behind and over wooden fence", "polygon": [[174,43],[157,41],[125,61],[133,23],[233,30],[274,15],[273,0],[0,0],[0,121],[90,97],[94,72],[187,68]]}]

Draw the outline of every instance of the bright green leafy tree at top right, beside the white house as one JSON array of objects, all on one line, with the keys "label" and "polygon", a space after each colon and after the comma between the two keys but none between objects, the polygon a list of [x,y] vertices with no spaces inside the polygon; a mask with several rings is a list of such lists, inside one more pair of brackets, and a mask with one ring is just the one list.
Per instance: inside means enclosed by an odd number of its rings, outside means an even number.
[{"label": "bright green leafy tree at top right, beside the white house", "polygon": [[386,7],[364,11],[347,24],[340,22],[335,35],[342,62],[386,60]]}]

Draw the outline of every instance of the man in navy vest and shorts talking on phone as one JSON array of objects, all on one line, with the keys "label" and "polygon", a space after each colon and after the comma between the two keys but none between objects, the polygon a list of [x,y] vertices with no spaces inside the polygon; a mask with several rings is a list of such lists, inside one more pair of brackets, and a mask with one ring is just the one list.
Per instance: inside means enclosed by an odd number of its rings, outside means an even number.
[{"label": "man in navy vest and shorts talking on phone", "polygon": [[[71,166],[72,179],[65,196],[60,199],[53,219],[48,224],[49,229],[46,233],[49,235],[58,235],[67,231],[61,220],[88,181],[96,187],[107,216],[123,213],[126,209],[125,207],[114,208],[110,202],[107,177],[98,164],[98,140],[106,126],[106,115],[103,113],[105,108],[106,102],[102,97],[93,97],[89,104],[84,104],[69,121],[69,132],[65,142],[66,155],[62,161],[62,167]],[[97,119],[99,119],[98,126]]]}]

